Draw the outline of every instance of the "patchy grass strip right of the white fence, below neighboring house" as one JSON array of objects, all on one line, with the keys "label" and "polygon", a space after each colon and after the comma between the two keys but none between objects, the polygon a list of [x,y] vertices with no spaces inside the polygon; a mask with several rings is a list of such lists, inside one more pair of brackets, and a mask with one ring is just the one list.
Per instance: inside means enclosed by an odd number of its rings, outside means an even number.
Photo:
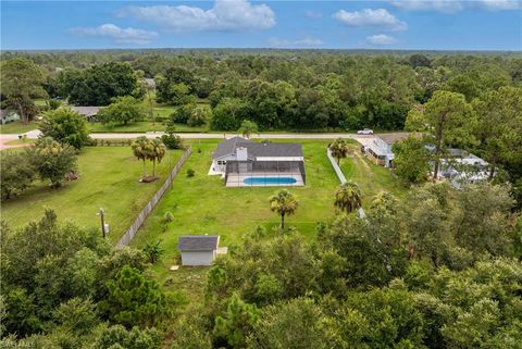
[{"label": "patchy grass strip right of the white fence, below neighboring house", "polygon": [[357,183],[362,192],[362,204],[368,207],[370,200],[380,191],[389,191],[398,199],[402,199],[407,188],[389,170],[370,162],[360,152],[359,144],[351,144],[352,155],[340,162],[340,169],[347,180]]}]

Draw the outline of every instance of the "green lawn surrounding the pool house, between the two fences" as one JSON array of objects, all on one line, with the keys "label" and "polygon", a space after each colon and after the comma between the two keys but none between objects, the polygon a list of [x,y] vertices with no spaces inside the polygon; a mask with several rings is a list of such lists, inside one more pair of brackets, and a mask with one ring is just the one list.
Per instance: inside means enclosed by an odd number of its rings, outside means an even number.
[{"label": "green lawn surrounding the pool house, between the two fences", "polygon": [[[135,246],[144,246],[146,241],[162,239],[165,255],[163,262],[156,266],[158,273],[165,275],[167,266],[174,263],[179,235],[219,234],[221,245],[231,246],[239,242],[240,236],[257,225],[270,230],[279,223],[279,217],[270,211],[269,205],[269,198],[277,190],[276,187],[226,188],[220,176],[207,175],[217,142],[194,141],[192,154],[174,180],[173,188],[165,194],[133,241]],[[307,238],[313,238],[318,222],[334,217],[333,195],[338,180],[326,158],[328,140],[306,140],[301,144],[307,185],[289,188],[298,198],[299,209],[287,219],[287,223],[296,226]],[[195,177],[186,176],[188,169],[196,171]],[[164,230],[162,219],[165,212],[172,212],[174,222]]]}]

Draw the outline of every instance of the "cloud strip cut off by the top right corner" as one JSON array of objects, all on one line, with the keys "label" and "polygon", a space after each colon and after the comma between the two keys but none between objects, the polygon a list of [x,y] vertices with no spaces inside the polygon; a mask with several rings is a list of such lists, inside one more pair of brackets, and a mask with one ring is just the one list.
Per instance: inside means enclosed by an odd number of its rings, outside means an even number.
[{"label": "cloud strip cut off by the top right corner", "polygon": [[522,9],[520,0],[390,0],[397,9],[406,11],[437,11],[456,13],[464,9],[481,8],[490,11]]}]

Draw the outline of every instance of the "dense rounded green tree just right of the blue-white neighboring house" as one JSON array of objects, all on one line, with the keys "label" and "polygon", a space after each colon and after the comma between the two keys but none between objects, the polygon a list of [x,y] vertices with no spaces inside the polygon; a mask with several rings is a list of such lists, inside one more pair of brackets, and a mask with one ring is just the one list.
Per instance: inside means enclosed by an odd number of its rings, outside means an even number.
[{"label": "dense rounded green tree just right of the blue-white neighboring house", "polygon": [[430,152],[425,141],[410,136],[394,145],[395,173],[407,184],[423,183],[430,172]]}]

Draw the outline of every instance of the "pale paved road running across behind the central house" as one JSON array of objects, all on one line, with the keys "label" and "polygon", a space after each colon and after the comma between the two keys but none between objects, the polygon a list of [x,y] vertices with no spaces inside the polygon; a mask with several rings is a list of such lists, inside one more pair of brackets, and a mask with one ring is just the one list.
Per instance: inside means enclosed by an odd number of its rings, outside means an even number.
[{"label": "pale paved road running across behind the central house", "polygon": [[[36,139],[39,136],[39,130],[30,130],[26,133],[27,138]],[[150,133],[107,133],[107,134],[90,134],[90,137],[95,139],[133,139],[140,136],[146,136],[149,138],[161,137],[164,135],[162,132],[150,132]],[[198,133],[182,133],[178,134],[182,138],[186,139],[223,139],[223,138],[231,138],[234,136],[240,136],[237,133],[224,133],[224,134],[198,134]],[[271,139],[335,139],[335,138],[351,138],[359,141],[368,141],[373,139],[373,136],[364,136],[364,135],[357,135],[357,134],[256,134],[252,135],[250,138],[271,138]],[[2,139],[17,139],[17,135],[2,135]]]}]

